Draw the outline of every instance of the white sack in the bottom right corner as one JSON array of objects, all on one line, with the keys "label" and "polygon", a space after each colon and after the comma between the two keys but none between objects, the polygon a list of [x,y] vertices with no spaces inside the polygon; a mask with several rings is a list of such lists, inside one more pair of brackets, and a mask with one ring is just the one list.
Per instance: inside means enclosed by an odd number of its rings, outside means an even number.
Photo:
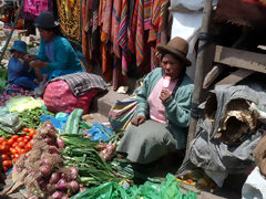
[{"label": "white sack in the bottom right corner", "polygon": [[263,198],[266,198],[266,178],[260,175],[259,168],[255,167],[242,188],[242,199]]}]

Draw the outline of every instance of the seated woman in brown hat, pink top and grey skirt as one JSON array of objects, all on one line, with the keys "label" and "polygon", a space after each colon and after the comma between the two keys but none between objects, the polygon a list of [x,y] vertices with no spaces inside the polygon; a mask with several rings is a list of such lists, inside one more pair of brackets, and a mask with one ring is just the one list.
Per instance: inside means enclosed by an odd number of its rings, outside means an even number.
[{"label": "seated woman in brown hat, pink top and grey skirt", "polygon": [[185,74],[187,49],[181,38],[157,45],[162,67],[144,78],[136,115],[117,147],[132,163],[150,164],[186,146],[194,88]]}]

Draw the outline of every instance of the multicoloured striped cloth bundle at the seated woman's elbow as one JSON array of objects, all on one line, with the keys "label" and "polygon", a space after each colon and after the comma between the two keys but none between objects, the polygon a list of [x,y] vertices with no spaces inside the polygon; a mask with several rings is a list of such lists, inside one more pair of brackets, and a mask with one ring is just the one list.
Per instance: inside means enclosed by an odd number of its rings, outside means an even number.
[{"label": "multicoloured striped cloth bundle at the seated woman's elbow", "polygon": [[109,112],[109,122],[114,130],[125,130],[136,112],[136,98],[116,101]]}]

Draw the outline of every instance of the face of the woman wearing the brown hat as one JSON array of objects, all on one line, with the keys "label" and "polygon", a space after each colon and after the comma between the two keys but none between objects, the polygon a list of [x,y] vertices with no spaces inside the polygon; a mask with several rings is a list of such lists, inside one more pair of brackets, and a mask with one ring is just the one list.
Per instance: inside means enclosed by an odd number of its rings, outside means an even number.
[{"label": "face of the woman wearing the brown hat", "polygon": [[181,74],[182,70],[185,67],[183,62],[177,60],[172,54],[165,54],[161,61],[164,74],[170,76],[172,80],[175,80]]}]

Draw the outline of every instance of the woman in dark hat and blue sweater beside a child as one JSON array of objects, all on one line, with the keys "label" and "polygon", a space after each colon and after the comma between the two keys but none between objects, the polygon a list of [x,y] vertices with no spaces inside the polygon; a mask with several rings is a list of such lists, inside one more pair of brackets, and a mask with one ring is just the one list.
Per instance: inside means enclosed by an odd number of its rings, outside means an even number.
[{"label": "woman in dark hat and blue sweater beside a child", "polygon": [[60,29],[51,12],[41,12],[34,25],[41,35],[39,54],[30,54],[25,59],[35,69],[39,78],[42,78],[43,74],[53,78],[82,71],[75,51],[69,41],[60,35]]}]

